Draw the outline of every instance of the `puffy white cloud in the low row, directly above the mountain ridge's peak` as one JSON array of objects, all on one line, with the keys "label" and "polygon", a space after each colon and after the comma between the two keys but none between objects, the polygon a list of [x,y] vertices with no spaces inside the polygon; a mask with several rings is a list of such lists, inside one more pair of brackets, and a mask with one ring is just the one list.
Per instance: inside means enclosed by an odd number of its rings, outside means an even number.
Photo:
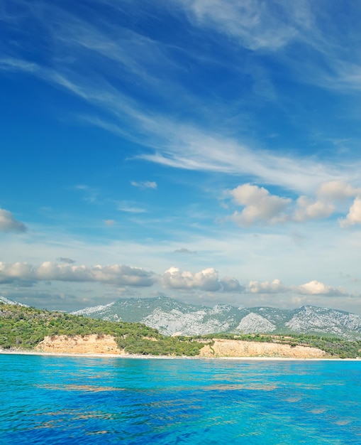
[{"label": "puffy white cloud in the low row, directly above the mountain ridge's peak", "polygon": [[170,267],[162,276],[162,285],[168,289],[201,289],[203,291],[241,291],[237,279],[218,277],[213,267],[201,272],[181,271],[178,267]]}]

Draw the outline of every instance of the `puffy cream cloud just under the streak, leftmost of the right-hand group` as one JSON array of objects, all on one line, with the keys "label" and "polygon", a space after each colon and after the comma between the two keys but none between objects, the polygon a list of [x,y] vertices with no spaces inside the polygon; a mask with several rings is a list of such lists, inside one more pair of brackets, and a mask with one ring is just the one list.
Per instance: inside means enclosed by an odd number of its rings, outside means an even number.
[{"label": "puffy cream cloud just under the streak, leftmost of the right-hand group", "polygon": [[233,202],[243,205],[241,212],[236,211],[231,219],[242,227],[248,227],[253,223],[272,224],[282,220],[282,213],[291,203],[289,198],[281,198],[271,195],[263,187],[252,186],[250,183],[233,188],[229,192]]}]

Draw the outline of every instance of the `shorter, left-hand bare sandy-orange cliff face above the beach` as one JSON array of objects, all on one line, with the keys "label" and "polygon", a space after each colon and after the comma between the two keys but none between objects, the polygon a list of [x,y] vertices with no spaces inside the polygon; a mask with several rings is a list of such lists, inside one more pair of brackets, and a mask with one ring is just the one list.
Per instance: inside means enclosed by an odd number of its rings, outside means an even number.
[{"label": "shorter, left-hand bare sandy-orange cliff face above the beach", "polygon": [[47,353],[123,354],[113,336],[52,336],[45,337],[35,350]]}]

